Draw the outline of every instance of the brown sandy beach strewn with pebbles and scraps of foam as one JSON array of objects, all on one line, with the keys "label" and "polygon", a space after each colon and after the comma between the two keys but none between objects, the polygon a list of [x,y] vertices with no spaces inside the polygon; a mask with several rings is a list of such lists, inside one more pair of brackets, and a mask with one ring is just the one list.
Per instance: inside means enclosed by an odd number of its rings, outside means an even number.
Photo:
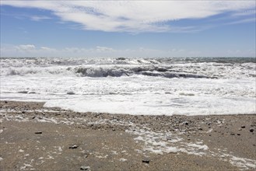
[{"label": "brown sandy beach strewn with pebbles and scraps of foam", "polygon": [[75,113],[11,101],[0,107],[1,170],[255,169],[256,114]]}]

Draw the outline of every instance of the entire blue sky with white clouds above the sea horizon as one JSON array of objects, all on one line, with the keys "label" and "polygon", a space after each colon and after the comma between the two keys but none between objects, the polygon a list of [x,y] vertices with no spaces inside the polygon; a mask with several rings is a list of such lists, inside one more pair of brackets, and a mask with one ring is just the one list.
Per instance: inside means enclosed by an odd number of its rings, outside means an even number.
[{"label": "entire blue sky with white clouds above the sea horizon", "polygon": [[254,0],[1,0],[1,57],[255,57]]}]

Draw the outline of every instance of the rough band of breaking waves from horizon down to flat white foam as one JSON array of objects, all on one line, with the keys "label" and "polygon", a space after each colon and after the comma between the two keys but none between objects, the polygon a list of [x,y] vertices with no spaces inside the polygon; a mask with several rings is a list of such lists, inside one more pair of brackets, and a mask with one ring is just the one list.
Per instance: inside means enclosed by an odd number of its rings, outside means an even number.
[{"label": "rough band of breaking waves from horizon down to flat white foam", "polygon": [[163,78],[256,77],[252,58],[2,58],[1,75],[121,77],[145,75]]}]

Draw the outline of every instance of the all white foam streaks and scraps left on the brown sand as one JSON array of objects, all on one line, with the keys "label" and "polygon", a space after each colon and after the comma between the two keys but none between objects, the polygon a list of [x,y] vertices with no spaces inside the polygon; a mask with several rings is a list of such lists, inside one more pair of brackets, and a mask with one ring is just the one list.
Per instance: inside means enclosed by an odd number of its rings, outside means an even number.
[{"label": "all white foam streaks and scraps left on the brown sand", "polygon": [[[127,127],[125,132],[128,134],[135,135],[135,142],[142,145],[142,149],[135,149],[135,152],[142,153],[146,155],[147,152],[152,152],[157,155],[165,155],[169,153],[175,153],[179,155],[180,153],[185,153],[188,155],[198,155],[206,157],[214,157],[219,160],[224,160],[230,162],[233,166],[237,166],[240,169],[251,169],[255,168],[256,161],[253,159],[242,158],[237,155],[233,155],[232,152],[226,152],[226,149],[212,149],[202,140],[198,139],[196,141],[186,141],[181,138],[182,131],[179,133],[172,133],[168,131],[153,131],[149,127],[141,124],[135,124],[131,121],[117,120],[117,119],[100,119],[97,118],[95,121],[86,120],[82,117],[35,117],[33,119],[27,117],[26,113],[11,114],[12,111],[3,110],[0,112],[0,116],[3,120],[16,120],[19,122],[47,122],[53,124],[68,124],[68,125],[82,125],[82,124],[111,124],[118,125],[122,127]],[[202,134],[206,134],[202,132]],[[54,152],[44,156],[44,159],[54,159],[56,156],[61,154],[61,146],[54,146]],[[43,150],[45,148],[43,147]],[[19,149],[20,153],[24,153],[23,149]],[[116,152],[113,151],[113,154]],[[24,153],[26,154],[26,153]],[[102,154],[100,152],[95,152],[96,157],[100,159],[107,158],[108,155]],[[43,158],[42,158],[43,159]],[[31,164],[32,165],[32,164]],[[24,167],[24,166],[23,166]],[[26,169],[27,167],[24,167]]]}]

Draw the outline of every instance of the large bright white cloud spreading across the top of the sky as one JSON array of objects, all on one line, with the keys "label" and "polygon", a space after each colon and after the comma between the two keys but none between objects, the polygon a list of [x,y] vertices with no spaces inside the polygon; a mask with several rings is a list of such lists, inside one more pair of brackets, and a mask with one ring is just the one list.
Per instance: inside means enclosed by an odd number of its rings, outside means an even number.
[{"label": "large bright white cloud spreading across the top of the sky", "polygon": [[[181,19],[204,19],[255,8],[254,1],[1,1],[1,5],[47,9],[84,30],[169,32],[197,30],[171,26]],[[36,20],[42,19],[36,17]],[[168,23],[170,22],[170,23]]]}]

